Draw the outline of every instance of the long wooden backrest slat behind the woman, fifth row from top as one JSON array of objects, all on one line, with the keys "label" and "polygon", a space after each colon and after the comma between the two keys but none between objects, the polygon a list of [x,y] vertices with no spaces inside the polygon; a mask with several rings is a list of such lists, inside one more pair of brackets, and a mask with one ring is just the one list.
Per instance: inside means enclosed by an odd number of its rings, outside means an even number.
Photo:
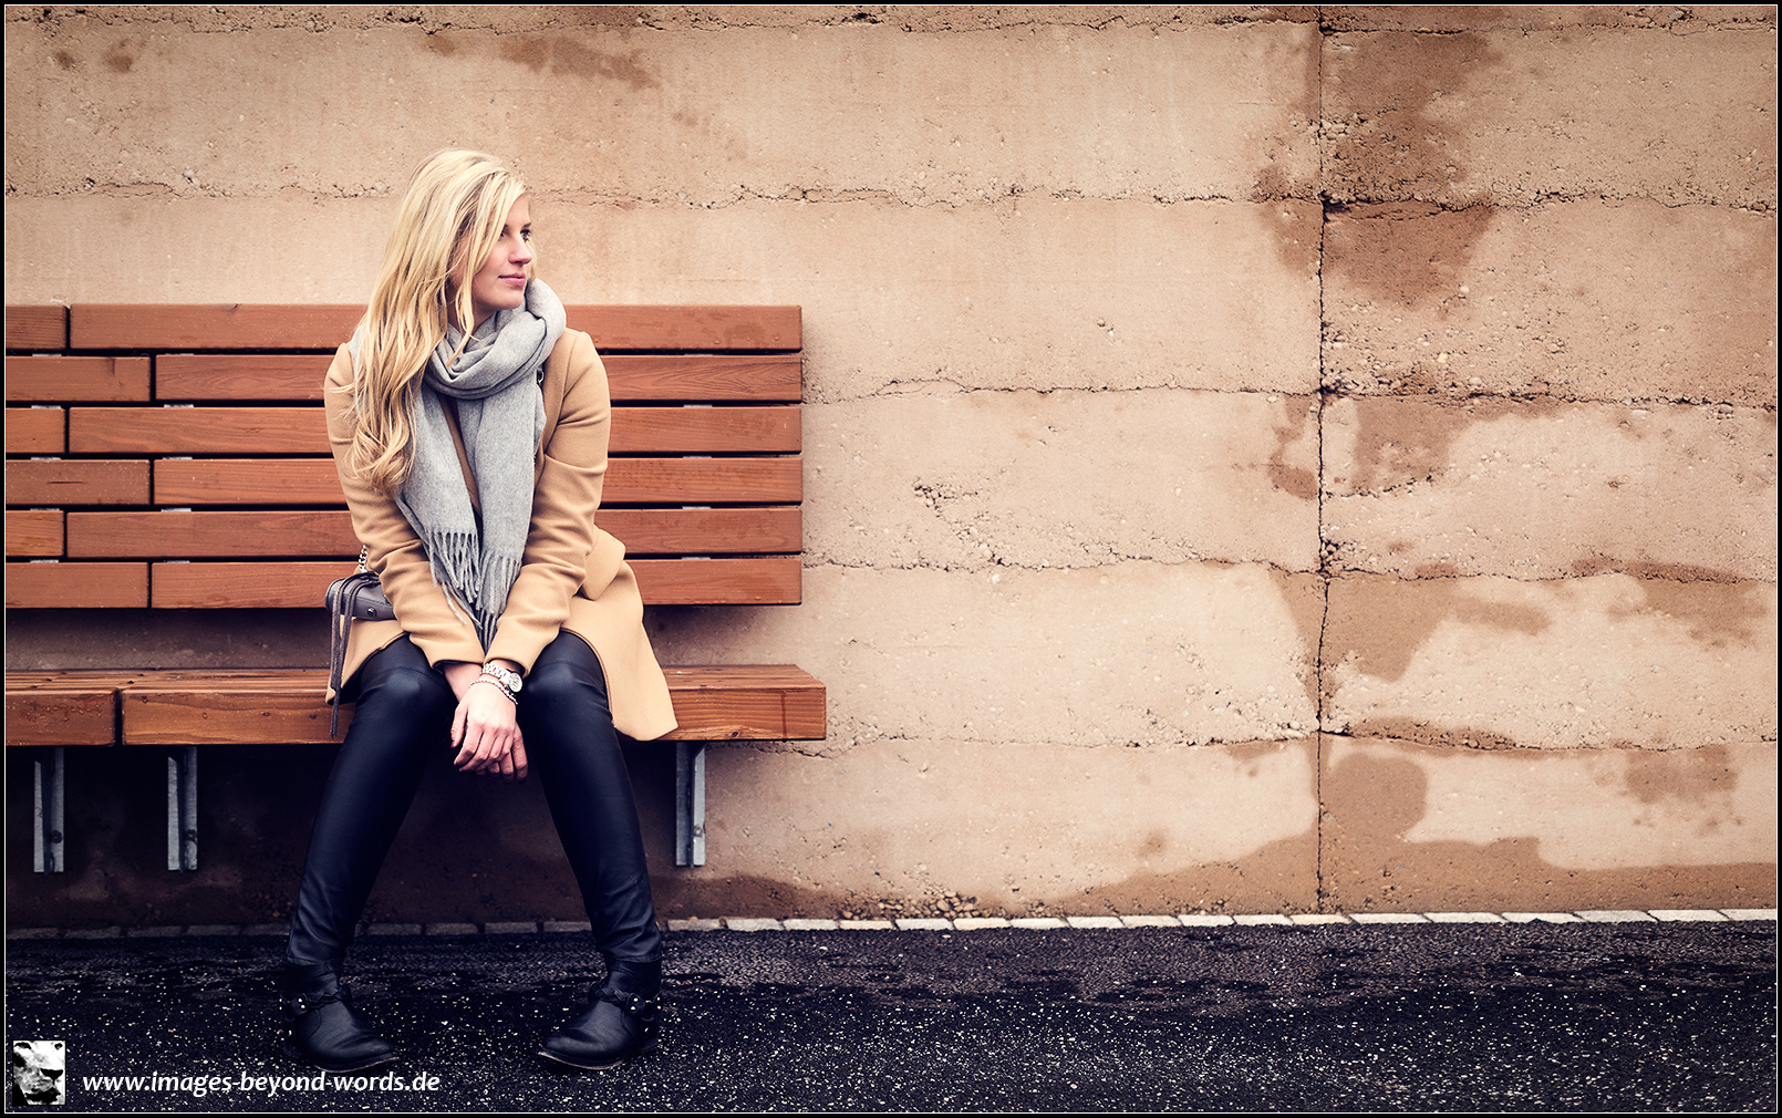
[{"label": "long wooden backrest slat behind the woman, fifth row from top", "polygon": [[[7,512],[9,555],[61,555],[59,512],[32,514],[30,546],[11,551],[16,510]],[[631,555],[750,555],[802,549],[795,505],[766,508],[602,508],[595,524],[625,542]],[[27,531],[21,524],[20,531]],[[69,558],[223,558],[246,555],[358,555],[353,519],[344,510],[312,512],[71,512]]]}]

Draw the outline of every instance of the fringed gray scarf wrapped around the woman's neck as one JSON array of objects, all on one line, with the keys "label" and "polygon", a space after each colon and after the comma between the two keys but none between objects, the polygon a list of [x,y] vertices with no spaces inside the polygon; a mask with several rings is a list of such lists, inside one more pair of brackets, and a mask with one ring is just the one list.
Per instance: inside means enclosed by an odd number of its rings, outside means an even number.
[{"label": "fringed gray scarf wrapped around the woman's neck", "polygon": [[[545,433],[538,385],[563,328],[563,303],[544,280],[533,280],[526,285],[526,305],[483,319],[449,367],[463,333],[447,328],[415,394],[410,417],[415,460],[396,505],[428,551],[433,581],[465,608],[485,649],[495,638],[531,531],[533,465]],[[356,344],[358,335],[349,346],[355,360]],[[481,524],[470,508],[442,396],[458,401],[458,433],[476,478]]]}]

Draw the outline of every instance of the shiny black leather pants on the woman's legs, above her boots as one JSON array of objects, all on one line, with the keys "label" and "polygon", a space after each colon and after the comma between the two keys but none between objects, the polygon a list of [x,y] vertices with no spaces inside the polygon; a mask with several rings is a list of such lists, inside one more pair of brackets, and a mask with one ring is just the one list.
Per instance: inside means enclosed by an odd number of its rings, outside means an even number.
[{"label": "shiny black leather pants on the woman's legs, above her boots", "polygon": [[[290,915],[289,961],[339,966],[346,958],[428,758],[451,752],[456,708],[446,676],[408,637],[365,660],[353,724],[315,811]],[[613,731],[606,676],[586,642],[561,633],[545,647],[520,688],[519,720],[601,954],[659,959],[661,931],[631,776]]]}]

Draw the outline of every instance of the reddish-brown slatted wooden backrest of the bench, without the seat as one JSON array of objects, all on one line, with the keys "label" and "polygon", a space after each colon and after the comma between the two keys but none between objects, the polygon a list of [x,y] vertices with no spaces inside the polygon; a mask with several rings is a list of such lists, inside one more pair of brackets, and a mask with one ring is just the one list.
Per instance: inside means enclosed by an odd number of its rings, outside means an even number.
[{"label": "reddish-brown slatted wooden backrest of the bench, without the seat", "polygon": [[[613,392],[597,522],[647,603],[800,601],[797,307],[568,307]],[[9,307],[7,606],[317,608],[351,571],[321,383],[360,307]]]}]

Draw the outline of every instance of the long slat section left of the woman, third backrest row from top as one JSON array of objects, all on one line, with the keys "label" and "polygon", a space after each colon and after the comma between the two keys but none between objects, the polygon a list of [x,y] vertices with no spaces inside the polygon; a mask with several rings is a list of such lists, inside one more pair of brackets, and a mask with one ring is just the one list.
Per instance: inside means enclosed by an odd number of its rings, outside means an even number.
[{"label": "long slat section left of the woman, third backrest row from top", "polygon": [[69,408],[71,455],[326,455],[328,419],[294,408]]}]

